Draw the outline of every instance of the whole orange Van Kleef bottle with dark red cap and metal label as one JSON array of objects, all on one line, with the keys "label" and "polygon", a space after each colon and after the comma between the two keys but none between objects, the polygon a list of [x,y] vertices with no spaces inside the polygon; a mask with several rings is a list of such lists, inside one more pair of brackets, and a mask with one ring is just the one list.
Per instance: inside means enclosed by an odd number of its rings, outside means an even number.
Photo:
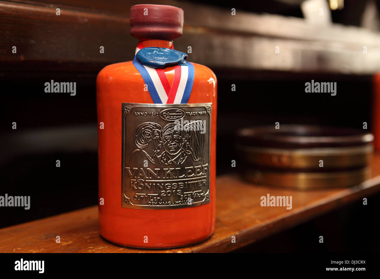
[{"label": "whole orange Van Kleef bottle with dark red cap and metal label", "polygon": [[[179,55],[172,49],[182,34],[182,9],[136,5],[131,25],[145,54]],[[97,77],[100,234],[128,247],[198,243],[215,226],[217,80],[203,65],[174,59],[156,71],[136,57],[106,66]],[[181,90],[188,100],[179,99]]]}]

